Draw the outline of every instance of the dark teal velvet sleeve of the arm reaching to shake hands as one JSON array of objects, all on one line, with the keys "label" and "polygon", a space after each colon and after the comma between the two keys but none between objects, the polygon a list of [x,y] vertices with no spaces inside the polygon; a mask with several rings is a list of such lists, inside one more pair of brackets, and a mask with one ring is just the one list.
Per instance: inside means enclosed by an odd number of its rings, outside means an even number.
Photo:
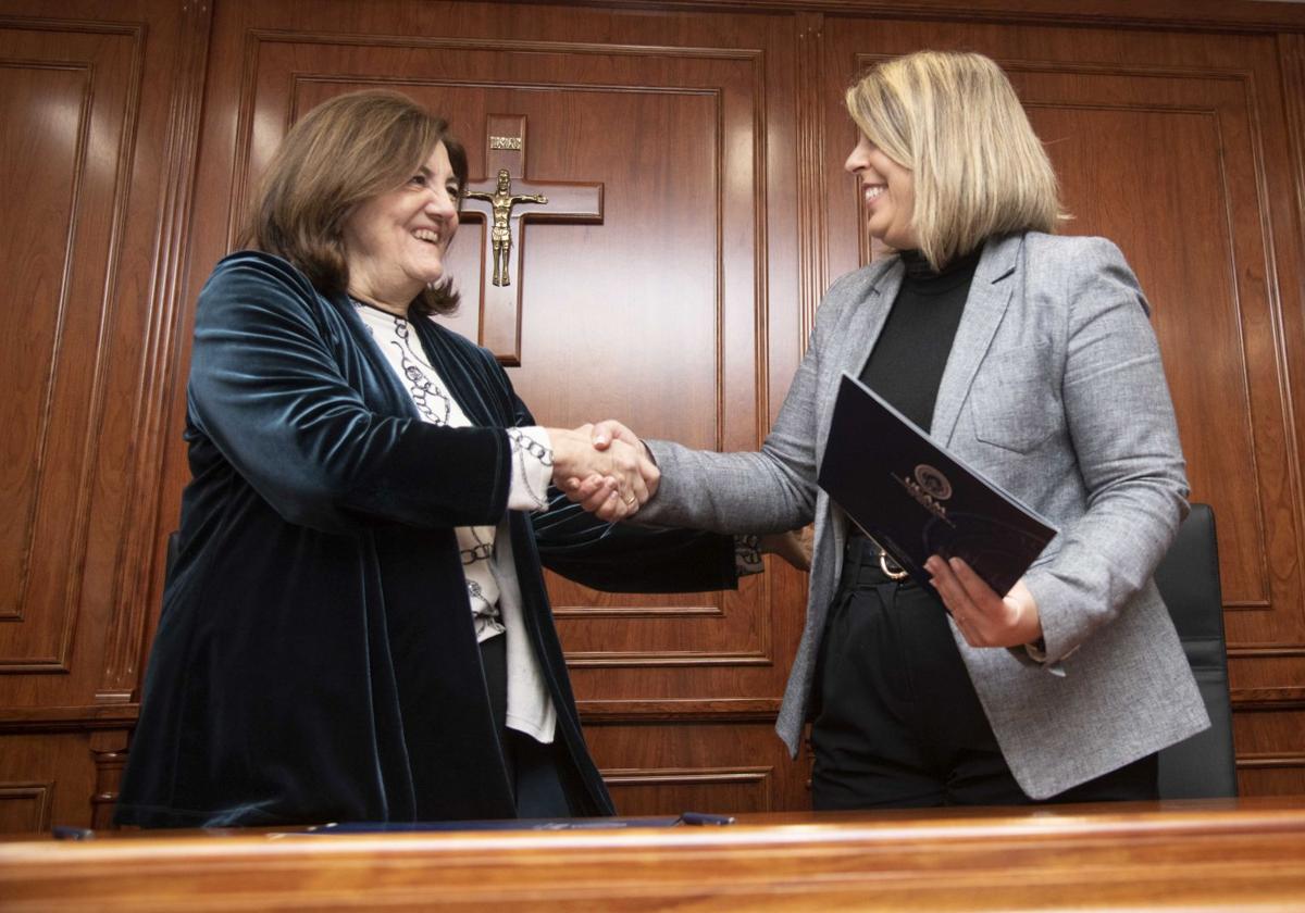
[{"label": "dark teal velvet sleeve of the arm reaching to shake hands", "polygon": [[346,378],[339,352],[352,342],[330,339],[328,307],[282,260],[244,253],[219,263],[196,317],[194,427],[292,523],[497,523],[509,488],[505,432],[369,408],[359,387],[377,378],[361,361],[360,377]]}]

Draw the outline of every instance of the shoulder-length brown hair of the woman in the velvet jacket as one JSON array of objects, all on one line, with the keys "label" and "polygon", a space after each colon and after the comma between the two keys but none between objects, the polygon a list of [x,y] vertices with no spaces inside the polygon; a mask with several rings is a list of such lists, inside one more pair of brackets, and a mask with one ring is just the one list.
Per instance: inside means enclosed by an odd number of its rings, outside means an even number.
[{"label": "shoulder-length brown hair of the woman in the velvet jacket", "polygon": [[[268,166],[241,244],[284,257],[322,293],[343,292],[345,220],[359,203],[408,180],[441,142],[461,201],[467,154],[448,127],[397,91],[364,90],[318,104],[290,128]],[[408,307],[422,314],[449,313],[458,307],[458,292],[444,279]]]}]

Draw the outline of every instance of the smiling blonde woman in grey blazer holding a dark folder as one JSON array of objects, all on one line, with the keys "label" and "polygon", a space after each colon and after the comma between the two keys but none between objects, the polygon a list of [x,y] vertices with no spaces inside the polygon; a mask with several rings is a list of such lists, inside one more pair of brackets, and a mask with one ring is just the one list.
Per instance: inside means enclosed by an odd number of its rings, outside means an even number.
[{"label": "smiling blonde woman in grey blazer holding a dark folder", "polygon": [[[1156,751],[1208,719],[1152,580],[1188,483],[1146,299],[1111,241],[1053,233],[1054,172],[988,57],[887,60],[846,102],[894,253],[830,287],[760,453],[647,443],[639,520],[814,520],[776,729],[796,753],[812,724],[817,809],[1154,798]],[[1010,592],[941,556],[930,587],[898,579],[817,486],[843,372],[1060,527]]]}]

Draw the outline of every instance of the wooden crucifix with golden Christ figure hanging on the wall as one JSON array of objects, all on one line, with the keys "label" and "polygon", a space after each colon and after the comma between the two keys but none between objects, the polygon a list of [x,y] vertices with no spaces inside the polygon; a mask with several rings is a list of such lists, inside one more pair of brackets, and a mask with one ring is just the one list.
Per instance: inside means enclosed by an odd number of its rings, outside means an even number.
[{"label": "wooden crucifix with golden Christ figure hanging on the wall", "polygon": [[480,344],[504,365],[521,364],[521,252],[527,222],[603,220],[603,185],[526,180],[526,119],[485,117],[484,180],[468,181],[462,218],[484,220]]}]

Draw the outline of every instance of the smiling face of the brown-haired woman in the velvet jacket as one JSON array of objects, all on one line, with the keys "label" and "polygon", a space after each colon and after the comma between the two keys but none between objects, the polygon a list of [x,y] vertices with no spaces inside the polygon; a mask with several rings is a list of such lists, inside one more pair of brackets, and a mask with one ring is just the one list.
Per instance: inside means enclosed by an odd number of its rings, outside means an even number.
[{"label": "smiling face of the brown-haired woman in the velvet jacket", "polygon": [[438,143],[402,187],[364,201],[343,224],[348,293],[406,314],[423,288],[444,278],[444,252],[458,230],[458,179]]}]

